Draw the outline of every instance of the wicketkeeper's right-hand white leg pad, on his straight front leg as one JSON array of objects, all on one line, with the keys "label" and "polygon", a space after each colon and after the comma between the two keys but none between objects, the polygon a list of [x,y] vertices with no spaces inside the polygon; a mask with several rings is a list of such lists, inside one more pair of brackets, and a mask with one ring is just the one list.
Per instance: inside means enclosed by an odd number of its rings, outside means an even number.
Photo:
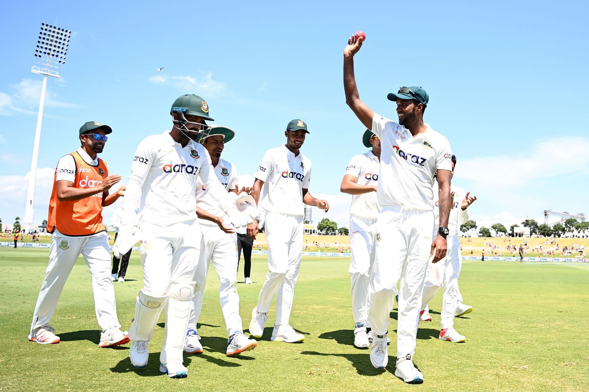
[{"label": "wicketkeeper's right-hand white leg pad, on his straight front leg", "polygon": [[161,363],[168,363],[173,359],[182,361],[195,284],[196,282],[175,281],[170,284],[170,298],[166,303],[164,344],[160,354]]}]

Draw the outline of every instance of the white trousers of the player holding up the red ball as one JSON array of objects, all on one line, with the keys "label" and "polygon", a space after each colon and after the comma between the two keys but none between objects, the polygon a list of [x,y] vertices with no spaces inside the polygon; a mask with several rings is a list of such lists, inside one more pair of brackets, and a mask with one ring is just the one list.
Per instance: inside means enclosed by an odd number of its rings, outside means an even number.
[{"label": "white trousers of the player holding up the red ball", "polygon": [[[423,281],[432,245],[434,212],[383,207],[376,222],[376,257],[370,281],[369,314],[373,334],[387,332],[399,294],[397,358],[415,353]],[[397,283],[401,280],[401,290]]]}]

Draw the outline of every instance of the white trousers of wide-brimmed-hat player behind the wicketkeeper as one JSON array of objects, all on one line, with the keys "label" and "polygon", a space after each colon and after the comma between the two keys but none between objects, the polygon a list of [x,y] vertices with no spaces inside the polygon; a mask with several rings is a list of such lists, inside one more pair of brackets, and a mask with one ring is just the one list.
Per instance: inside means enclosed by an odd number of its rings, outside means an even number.
[{"label": "white trousers of wide-brimmed-hat player behind the wicketkeeper", "polygon": [[239,315],[237,294],[237,234],[227,234],[217,225],[201,224],[203,240],[194,281],[193,306],[190,309],[188,328],[196,330],[200,311],[203,308],[204,286],[207,283],[211,261],[219,277],[219,302],[225,319],[227,334],[243,332]]}]

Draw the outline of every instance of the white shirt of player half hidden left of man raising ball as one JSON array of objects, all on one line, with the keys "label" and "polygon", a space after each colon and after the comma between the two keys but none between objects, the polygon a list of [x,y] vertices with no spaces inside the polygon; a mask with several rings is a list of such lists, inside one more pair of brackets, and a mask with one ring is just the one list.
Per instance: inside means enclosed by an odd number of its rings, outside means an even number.
[{"label": "white shirt of player half hidden left of man raising ball", "polygon": [[[378,185],[379,161],[372,151],[366,154],[354,155],[346,167],[345,174],[356,177],[356,184],[376,187]],[[376,219],[380,207],[376,200],[376,192],[363,193],[361,195],[352,195],[352,205],[350,205],[350,215],[356,215],[360,218]]]}]

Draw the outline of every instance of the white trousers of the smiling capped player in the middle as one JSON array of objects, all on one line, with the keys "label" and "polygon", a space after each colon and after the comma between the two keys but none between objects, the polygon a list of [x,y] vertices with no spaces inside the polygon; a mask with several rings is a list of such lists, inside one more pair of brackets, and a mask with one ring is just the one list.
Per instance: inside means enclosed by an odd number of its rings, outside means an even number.
[{"label": "white trousers of the smiling capped player in the middle", "polygon": [[266,313],[272,297],[278,293],[274,325],[288,324],[303,252],[303,217],[268,211],[265,227],[269,271],[260,291],[257,311]]}]

